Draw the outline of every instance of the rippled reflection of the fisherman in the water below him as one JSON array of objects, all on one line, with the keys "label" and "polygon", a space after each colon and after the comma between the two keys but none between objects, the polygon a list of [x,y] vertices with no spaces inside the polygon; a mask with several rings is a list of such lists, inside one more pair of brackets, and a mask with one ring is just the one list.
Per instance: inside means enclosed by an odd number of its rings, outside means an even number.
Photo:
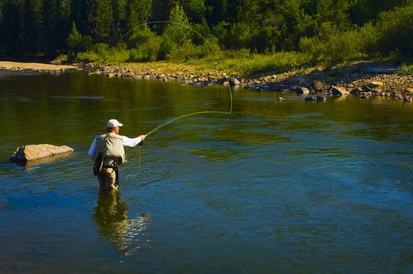
[{"label": "rippled reflection of the fisherman in the water below him", "polygon": [[[98,233],[109,240],[118,250],[127,249],[132,240],[139,241],[138,235],[145,235],[149,215],[142,214],[134,220],[128,220],[128,207],[120,200],[120,192],[99,191],[98,204],[94,209],[93,219],[99,226]],[[130,255],[126,252],[125,255]]]}]

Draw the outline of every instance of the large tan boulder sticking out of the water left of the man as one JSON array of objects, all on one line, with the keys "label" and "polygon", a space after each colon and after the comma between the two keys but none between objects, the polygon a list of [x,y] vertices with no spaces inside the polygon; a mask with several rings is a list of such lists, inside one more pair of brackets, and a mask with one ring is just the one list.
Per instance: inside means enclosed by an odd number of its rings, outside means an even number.
[{"label": "large tan boulder sticking out of the water left of the man", "polygon": [[37,160],[49,156],[56,156],[68,152],[73,152],[74,149],[67,147],[66,145],[25,145],[23,147],[17,147],[10,156],[11,162],[26,162],[30,160]]}]

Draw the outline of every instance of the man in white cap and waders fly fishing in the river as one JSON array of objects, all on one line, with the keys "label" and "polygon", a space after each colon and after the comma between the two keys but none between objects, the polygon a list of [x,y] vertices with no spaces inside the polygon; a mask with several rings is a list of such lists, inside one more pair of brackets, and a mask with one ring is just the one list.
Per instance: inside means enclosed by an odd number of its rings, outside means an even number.
[{"label": "man in white cap and waders fly fishing in the river", "polygon": [[[87,155],[95,161],[103,158],[101,169],[96,170],[100,189],[103,191],[112,191],[118,188],[118,166],[127,162],[125,149],[123,147],[135,147],[142,145],[142,140],[145,140],[146,135],[140,135],[136,138],[127,138],[119,134],[119,127],[123,124],[116,119],[107,121],[107,134],[102,134],[94,138],[92,145],[89,148]],[[99,156],[100,152],[102,153]],[[99,166],[100,167],[100,166]]]}]

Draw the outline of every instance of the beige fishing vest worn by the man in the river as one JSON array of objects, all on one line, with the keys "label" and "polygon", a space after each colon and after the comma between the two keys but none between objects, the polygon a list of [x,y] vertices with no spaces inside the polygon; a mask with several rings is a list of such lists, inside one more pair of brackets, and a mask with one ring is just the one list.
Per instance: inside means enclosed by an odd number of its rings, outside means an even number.
[{"label": "beige fishing vest worn by the man in the river", "polygon": [[127,162],[122,136],[114,133],[102,134],[96,137],[94,160],[98,157],[103,147],[103,165],[112,165],[118,159],[118,165]]}]

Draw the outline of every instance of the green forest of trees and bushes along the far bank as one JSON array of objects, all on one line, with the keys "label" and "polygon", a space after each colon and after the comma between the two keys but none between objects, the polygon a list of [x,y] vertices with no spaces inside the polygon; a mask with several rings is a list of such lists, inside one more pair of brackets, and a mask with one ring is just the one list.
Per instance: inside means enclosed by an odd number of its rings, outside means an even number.
[{"label": "green forest of trees and bushes along the far bank", "polygon": [[412,22],[413,0],[1,0],[0,55],[104,63],[280,52],[301,56],[299,63],[405,59],[413,55]]}]

